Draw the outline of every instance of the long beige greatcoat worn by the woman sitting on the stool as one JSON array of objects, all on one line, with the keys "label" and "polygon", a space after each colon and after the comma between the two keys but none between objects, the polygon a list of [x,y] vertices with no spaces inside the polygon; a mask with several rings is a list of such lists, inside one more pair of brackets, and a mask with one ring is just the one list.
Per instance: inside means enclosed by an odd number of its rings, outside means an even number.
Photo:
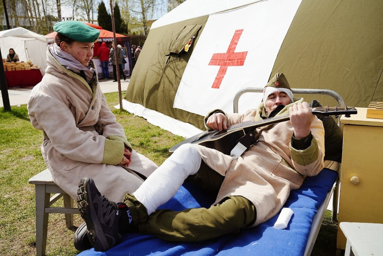
[{"label": "long beige greatcoat worn by the woman sitting on the stool", "polygon": [[53,181],[75,199],[80,179],[92,177],[101,194],[120,202],[143,182],[131,170],[147,177],[157,165],[134,150],[129,169],[118,165],[124,147],[131,145],[108,108],[97,76],[89,86],[49,50],[47,64],[43,80],[31,92],[28,114],[33,127],[44,131],[41,152]]}]

